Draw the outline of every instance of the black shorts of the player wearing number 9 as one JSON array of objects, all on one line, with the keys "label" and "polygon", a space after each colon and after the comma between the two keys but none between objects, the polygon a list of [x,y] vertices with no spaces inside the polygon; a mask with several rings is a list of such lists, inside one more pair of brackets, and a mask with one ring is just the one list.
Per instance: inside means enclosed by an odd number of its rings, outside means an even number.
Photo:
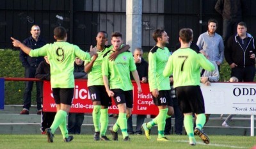
[{"label": "black shorts of the player wearing number 9", "polygon": [[52,95],[56,104],[71,106],[74,97],[74,88],[52,88]]}]

